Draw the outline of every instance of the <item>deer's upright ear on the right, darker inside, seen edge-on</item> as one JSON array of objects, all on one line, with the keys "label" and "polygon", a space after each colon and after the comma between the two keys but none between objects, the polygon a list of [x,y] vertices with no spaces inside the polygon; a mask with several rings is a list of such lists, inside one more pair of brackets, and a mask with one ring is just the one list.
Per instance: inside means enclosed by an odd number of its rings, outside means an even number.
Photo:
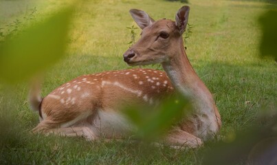
[{"label": "deer's upright ear on the right, darker inside, seen edge-on", "polygon": [[176,13],[175,20],[177,28],[179,29],[180,34],[183,34],[186,30],[186,25],[188,24],[188,13],[190,12],[190,7],[184,5]]}]

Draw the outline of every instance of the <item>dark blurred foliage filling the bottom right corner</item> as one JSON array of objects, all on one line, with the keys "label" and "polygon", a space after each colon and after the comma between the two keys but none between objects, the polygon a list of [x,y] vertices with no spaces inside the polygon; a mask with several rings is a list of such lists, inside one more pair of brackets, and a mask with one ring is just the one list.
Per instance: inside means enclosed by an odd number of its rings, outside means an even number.
[{"label": "dark blurred foliage filling the bottom right corner", "polygon": [[[266,126],[250,126],[232,131],[204,153],[203,164],[276,164],[276,117]],[[231,136],[232,138],[229,138]]]}]

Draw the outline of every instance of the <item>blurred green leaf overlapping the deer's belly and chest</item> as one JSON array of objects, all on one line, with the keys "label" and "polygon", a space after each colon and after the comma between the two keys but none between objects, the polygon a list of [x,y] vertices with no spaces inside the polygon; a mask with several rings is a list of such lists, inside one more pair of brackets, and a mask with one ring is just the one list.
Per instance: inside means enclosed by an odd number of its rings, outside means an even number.
[{"label": "blurred green leaf overlapping the deer's belly and chest", "polygon": [[159,106],[135,106],[124,109],[124,114],[137,129],[135,137],[144,141],[153,141],[162,137],[171,126],[174,126],[190,113],[191,106],[181,94],[160,102]]}]

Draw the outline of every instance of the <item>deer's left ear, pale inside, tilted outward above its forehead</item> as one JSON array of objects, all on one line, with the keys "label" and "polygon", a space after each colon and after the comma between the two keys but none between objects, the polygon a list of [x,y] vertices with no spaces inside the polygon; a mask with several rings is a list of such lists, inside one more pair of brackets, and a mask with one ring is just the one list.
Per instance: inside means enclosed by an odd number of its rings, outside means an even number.
[{"label": "deer's left ear, pale inside, tilted outward above its forehead", "polygon": [[142,10],[131,9],[130,14],[142,30],[155,22],[154,19],[149,17],[148,14]]}]

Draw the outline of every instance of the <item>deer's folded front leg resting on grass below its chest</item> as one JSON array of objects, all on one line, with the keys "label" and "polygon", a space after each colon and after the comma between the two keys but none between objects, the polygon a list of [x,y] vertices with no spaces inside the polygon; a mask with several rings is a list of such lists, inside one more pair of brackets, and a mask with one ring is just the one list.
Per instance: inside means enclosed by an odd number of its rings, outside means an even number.
[{"label": "deer's folded front leg resting on grass below its chest", "polygon": [[166,142],[173,148],[197,148],[203,144],[202,140],[181,129],[174,129],[166,136]]}]

